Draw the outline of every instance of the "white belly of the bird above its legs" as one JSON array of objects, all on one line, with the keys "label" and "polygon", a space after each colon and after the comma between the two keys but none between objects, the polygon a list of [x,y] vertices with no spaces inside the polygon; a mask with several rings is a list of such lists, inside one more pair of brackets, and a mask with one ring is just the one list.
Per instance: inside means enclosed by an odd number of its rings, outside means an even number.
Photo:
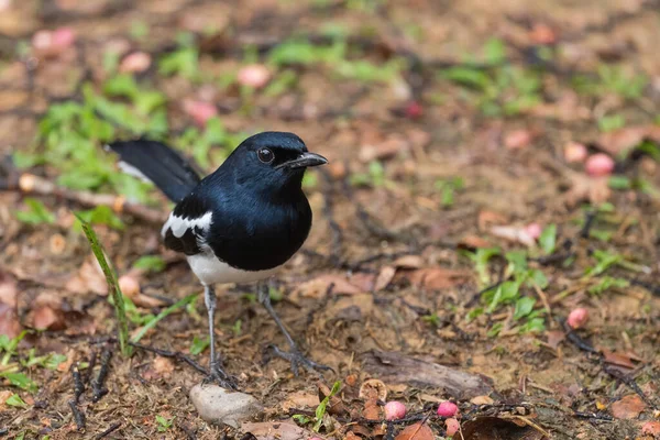
[{"label": "white belly of the bird above its legs", "polygon": [[270,277],[282,267],[267,271],[241,271],[207,253],[190,255],[187,258],[190,268],[204,285],[257,282]]}]

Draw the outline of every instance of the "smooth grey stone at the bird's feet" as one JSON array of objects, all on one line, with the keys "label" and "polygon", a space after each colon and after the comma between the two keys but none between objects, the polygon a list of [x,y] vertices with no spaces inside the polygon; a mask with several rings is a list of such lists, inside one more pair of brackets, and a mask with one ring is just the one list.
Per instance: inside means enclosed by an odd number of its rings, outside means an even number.
[{"label": "smooth grey stone at the bird's feet", "polygon": [[230,392],[218,385],[195,385],[190,400],[199,416],[209,424],[233,428],[263,411],[263,406],[249,394]]}]

